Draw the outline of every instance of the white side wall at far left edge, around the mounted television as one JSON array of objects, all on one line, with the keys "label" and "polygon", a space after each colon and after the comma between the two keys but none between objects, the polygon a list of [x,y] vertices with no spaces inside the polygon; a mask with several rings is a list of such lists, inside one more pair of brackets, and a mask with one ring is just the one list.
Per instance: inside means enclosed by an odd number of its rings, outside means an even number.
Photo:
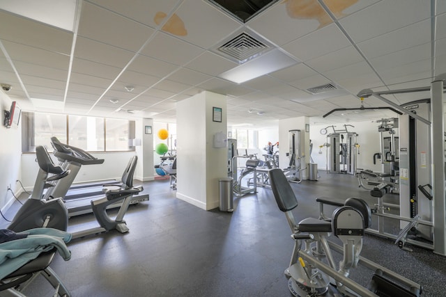
[{"label": "white side wall at far left edge, around the mounted television", "polygon": [[[3,125],[4,110],[9,111],[12,100],[0,90],[0,209],[6,210],[14,201],[13,193],[8,191],[10,185],[15,195],[19,195],[20,184],[16,180],[20,179],[20,155],[22,154],[22,121],[19,127]],[[19,186],[17,186],[19,185]]]}]

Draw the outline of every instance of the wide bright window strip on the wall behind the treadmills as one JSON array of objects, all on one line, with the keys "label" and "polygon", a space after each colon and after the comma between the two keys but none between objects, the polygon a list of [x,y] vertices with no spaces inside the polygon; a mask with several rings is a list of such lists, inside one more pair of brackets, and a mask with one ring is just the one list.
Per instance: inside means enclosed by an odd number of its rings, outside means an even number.
[{"label": "wide bright window strip on the wall behind the treadmills", "polygon": [[37,145],[49,149],[51,137],[90,152],[131,151],[134,121],[78,115],[23,113],[22,152],[36,152]]}]

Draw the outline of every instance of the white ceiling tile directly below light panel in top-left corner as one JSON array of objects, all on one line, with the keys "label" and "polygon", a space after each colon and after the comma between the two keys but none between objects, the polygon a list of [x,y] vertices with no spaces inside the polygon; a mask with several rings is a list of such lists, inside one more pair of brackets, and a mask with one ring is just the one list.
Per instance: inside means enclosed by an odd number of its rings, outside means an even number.
[{"label": "white ceiling tile directly below light panel in top-left corner", "polygon": [[[48,51],[70,54],[72,33],[0,10],[0,40],[24,43]],[[6,29],[7,30],[4,30]]]}]

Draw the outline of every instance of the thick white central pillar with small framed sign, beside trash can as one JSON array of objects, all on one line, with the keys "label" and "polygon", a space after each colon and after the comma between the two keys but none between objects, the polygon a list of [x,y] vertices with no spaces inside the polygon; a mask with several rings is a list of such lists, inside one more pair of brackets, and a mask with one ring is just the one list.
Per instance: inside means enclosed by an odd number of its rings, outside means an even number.
[{"label": "thick white central pillar with small framed sign, beside trash can", "polygon": [[[222,122],[213,122],[213,107],[222,108]],[[213,147],[217,132],[226,132],[226,96],[202,92],[177,103],[176,197],[201,209],[219,204],[219,181],[227,177],[227,148]]]}]

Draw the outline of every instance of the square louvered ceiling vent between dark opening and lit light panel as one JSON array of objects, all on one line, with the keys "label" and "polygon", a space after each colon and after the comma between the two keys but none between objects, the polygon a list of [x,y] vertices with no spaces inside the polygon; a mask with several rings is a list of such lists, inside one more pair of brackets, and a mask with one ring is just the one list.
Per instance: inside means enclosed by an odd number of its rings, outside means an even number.
[{"label": "square louvered ceiling vent between dark opening and lit light panel", "polygon": [[216,54],[229,58],[231,61],[243,64],[273,48],[270,42],[245,30],[236,35],[236,37],[232,37],[229,40],[226,39],[223,45],[215,47],[213,51]]}]

